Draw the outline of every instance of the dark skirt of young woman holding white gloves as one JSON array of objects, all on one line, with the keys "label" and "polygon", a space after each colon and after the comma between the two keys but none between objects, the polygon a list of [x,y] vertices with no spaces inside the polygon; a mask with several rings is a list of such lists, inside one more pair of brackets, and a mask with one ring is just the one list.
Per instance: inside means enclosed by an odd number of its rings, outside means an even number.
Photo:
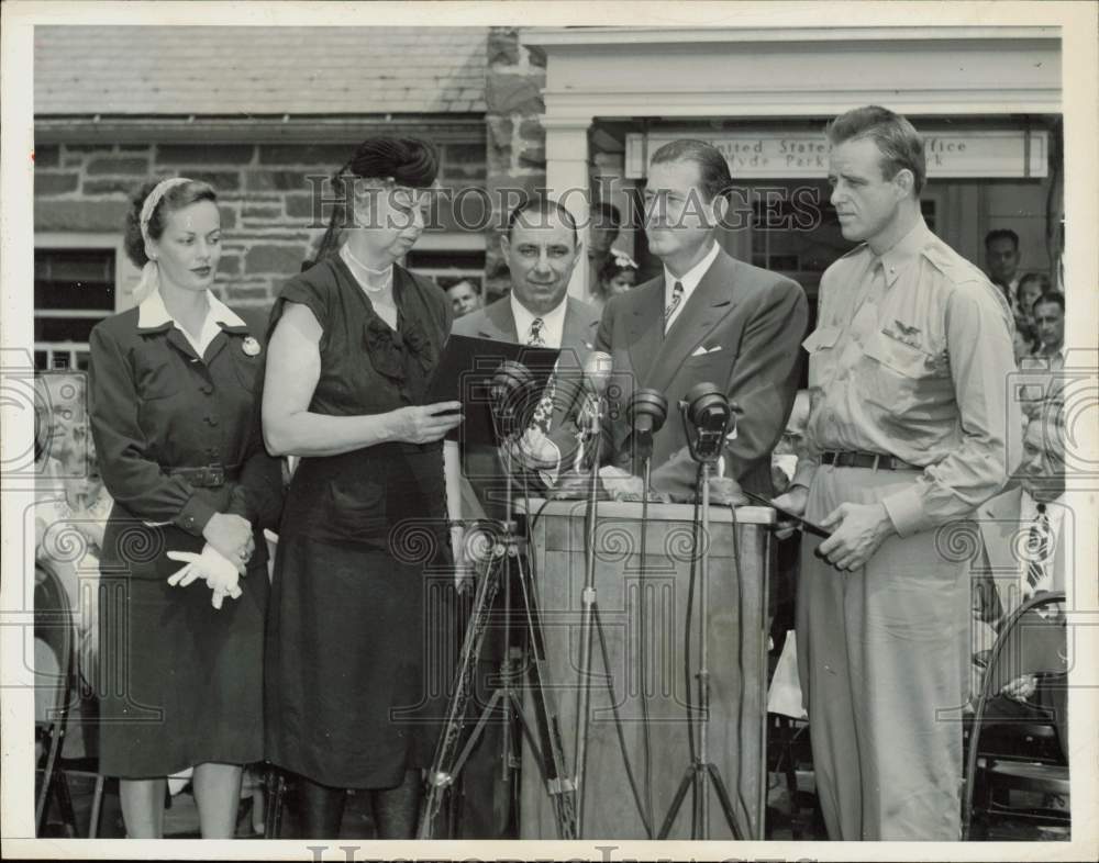
[{"label": "dark skirt of young woman holding white gloves", "polygon": [[154,778],[263,759],[266,565],[249,567],[241,589],[218,610],[204,581],[171,587],[102,573],[101,773]]}]

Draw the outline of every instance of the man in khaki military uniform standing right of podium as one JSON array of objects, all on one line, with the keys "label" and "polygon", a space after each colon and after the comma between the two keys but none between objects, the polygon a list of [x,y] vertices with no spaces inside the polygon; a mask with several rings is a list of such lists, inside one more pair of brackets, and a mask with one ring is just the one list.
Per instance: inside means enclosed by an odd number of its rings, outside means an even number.
[{"label": "man in khaki military uniform standing right of podium", "polygon": [[951,841],[970,603],[950,525],[1014,467],[1011,312],[928,229],[907,120],[862,108],[828,136],[832,204],[863,245],[821,281],[804,449],[778,498],[833,533],[802,542],[797,609],[817,789],[831,839]]}]

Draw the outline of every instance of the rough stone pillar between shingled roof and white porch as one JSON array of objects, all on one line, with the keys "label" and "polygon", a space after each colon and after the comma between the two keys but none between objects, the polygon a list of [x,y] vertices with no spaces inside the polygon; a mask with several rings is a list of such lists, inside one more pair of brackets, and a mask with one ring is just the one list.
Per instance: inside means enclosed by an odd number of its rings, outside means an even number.
[{"label": "rough stone pillar between shingled roof and white porch", "polygon": [[[515,27],[491,27],[485,81],[487,104],[487,190],[493,206],[492,225],[486,236],[485,277],[489,295],[509,288],[508,266],[500,251],[499,229],[518,193],[546,184],[545,55],[519,44]],[[509,205],[510,204],[510,205]]]}]

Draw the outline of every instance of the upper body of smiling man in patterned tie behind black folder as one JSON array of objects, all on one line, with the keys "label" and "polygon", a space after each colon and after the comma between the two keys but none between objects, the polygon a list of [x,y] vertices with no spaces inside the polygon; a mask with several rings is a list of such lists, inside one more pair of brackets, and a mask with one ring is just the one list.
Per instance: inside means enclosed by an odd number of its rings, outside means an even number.
[{"label": "upper body of smiling man in patterned tie behind black folder", "polygon": [[[511,273],[511,293],[455,321],[452,332],[560,349],[553,376],[552,413],[544,423],[528,429],[513,453],[515,467],[525,469],[524,479],[541,492],[576,460],[582,370],[595,343],[599,313],[567,295],[569,278],[580,259],[580,243],[565,206],[542,197],[523,202],[512,211],[500,247]],[[463,473],[484,514],[503,517],[507,489],[496,448],[465,447]],[[464,509],[466,516],[480,514]]]}]

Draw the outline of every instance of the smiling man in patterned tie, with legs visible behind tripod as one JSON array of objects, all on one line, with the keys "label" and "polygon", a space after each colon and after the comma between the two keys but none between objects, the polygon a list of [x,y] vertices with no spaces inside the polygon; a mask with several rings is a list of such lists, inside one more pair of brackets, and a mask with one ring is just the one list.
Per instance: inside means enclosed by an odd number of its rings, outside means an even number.
[{"label": "smiling man in patterned tie, with legs visible behind tripod", "polygon": [[[582,370],[592,349],[599,313],[587,303],[567,296],[573,268],[580,260],[580,243],[576,223],[562,204],[541,197],[520,204],[510,214],[508,233],[500,246],[511,273],[511,293],[455,321],[452,332],[560,349],[552,384],[547,386],[552,407],[546,404],[548,410],[544,415],[536,415],[512,452],[512,477],[517,480],[513,490],[542,492],[567,473],[577,458],[576,415],[584,402]],[[504,500],[509,480],[501,456],[495,447],[463,446],[465,518],[507,517]],[[478,711],[491,697],[497,672],[512,640],[509,634],[489,625],[476,669]],[[509,820],[513,795],[509,785],[517,787],[518,774],[512,772],[509,783],[499,781],[502,728],[499,720],[485,726],[463,770],[460,839],[518,838],[514,823]],[[519,733],[518,728],[512,729],[513,741]]]}]

